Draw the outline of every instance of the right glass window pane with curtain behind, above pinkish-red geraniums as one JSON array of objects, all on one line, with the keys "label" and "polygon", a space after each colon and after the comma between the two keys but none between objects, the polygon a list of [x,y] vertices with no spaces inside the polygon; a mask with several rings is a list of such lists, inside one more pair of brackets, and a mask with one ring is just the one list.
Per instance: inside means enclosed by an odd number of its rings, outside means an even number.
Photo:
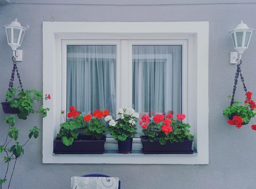
[{"label": "right glass window pane with curtain behind, above pinkish-red geraniums", "polygon": [[[132,47],[132,107],[140,115],[182,113],[182,46],[135,45]],[[141,127],[137,127],[139,137]]]}]

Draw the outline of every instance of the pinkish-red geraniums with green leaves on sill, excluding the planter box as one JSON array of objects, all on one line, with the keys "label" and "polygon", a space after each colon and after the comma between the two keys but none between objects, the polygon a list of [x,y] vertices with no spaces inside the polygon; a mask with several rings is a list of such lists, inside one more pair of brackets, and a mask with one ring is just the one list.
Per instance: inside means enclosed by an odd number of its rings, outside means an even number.
[{"label": "pinkish-red geraniums with green leaves on sill, excluding the planter box", "polygon": [[183,142],[184,139],[194,139],[194,135],[189,134],[190,125],[182,123],[184,119],[184,114],[178,114],[177,120],[173,119],[172,114],[165,117],[162,114],[157,114],[153,117],[153,122],[150,123],[149,116],[143,115],[139,124],[150,142],[157,140],[161,145],[164,145],[168,140],[173,143]]}]

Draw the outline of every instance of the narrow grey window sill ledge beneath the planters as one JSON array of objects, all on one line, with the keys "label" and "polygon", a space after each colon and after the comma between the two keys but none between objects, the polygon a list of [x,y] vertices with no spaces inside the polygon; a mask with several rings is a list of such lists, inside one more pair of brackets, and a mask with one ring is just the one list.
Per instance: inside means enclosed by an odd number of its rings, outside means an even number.
[{"label": "narrow grey window sill ledge beneath the planters", "polygon": [[191,157],[191,156],[198,156],[197,151],[195,150],[193,154],[143,154],[142,150],[132,150],[130,154],[120,154],[118,153],[117,149],[113,150],[105,150],[104,154],[54,154],[53,156],[98,156],[98,157],[105,157],[105,156],[119,156],[119,157],[136,157],[136,156],[141,156],[141,157],[151,157],[151,156],[179,156],[179,157]]}]

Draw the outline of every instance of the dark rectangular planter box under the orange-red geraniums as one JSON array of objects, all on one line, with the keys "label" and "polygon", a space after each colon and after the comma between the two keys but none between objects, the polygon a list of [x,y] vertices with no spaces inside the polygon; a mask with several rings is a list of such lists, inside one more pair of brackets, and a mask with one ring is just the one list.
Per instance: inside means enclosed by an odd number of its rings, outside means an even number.
[{"label": "dark rectangular planter box under the orange-red geraniums", "polygon": [[73,144],[66,146],[62,143],[61,138],[53,141],[54,154],[103,154],[106,136],[102,136],[100,140],[92,140],[92,136],[78,136]]}]

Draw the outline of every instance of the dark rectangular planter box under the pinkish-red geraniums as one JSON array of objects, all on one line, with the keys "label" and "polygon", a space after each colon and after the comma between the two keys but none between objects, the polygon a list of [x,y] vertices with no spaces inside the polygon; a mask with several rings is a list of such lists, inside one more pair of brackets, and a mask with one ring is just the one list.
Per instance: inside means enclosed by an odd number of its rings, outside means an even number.
[{"label": "dark rectangular planter box under the pinkish-red geraniums", "polygon": [[144,154],[193,154],[192,144],[194,140],[184,139],[184,142],[167,141],[161,145],[159,141],[150,142],[148,136],[140,136]]}]

